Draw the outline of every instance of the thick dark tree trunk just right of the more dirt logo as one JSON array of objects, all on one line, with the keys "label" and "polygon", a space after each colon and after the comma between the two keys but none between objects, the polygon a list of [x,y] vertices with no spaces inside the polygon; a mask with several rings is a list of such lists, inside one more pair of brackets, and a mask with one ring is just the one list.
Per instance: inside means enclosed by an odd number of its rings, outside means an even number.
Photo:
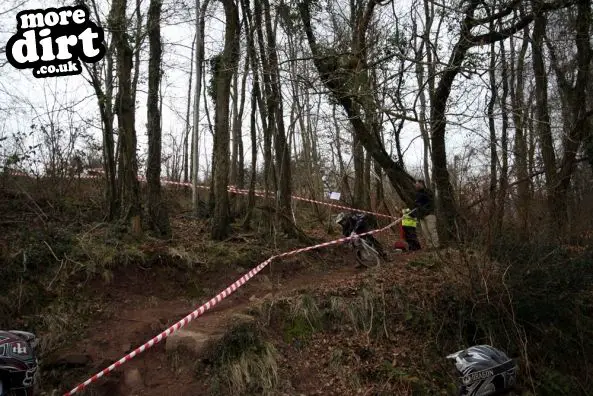
[{"label": "thick dark tree trunk just right of the more dirt logo", "polygon": [[119,90],[116,99],[116,113],[119,130],[120,216],[130,222],[131,231],[142,231],[140,209],[140,186],[136,158],[135,105],[132,96],[133,52],[126,35],[127,0],[114,0],[112,8],[113,41],[117,52],[117,77]]}]

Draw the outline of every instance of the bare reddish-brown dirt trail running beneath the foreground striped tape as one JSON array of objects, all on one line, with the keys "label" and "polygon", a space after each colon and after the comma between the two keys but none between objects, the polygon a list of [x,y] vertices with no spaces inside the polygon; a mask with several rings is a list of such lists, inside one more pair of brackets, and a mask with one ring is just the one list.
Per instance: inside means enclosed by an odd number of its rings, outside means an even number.
[{"label": "bare reddish-brown dirt trail running beneath the foreground striped tape", "polygon": [[[338,253],[338,254],[336,254]],[[308,257],[308,259],[307,259]],[[365,269],[355,268],[355,261],[348,249],[330,248],[324,252],[305,257],[291,258],[272,263],[215,308],[190,322],[182,330],[216,335],[224,332],[233,314],[249,307],[254,300],[271,294],[278,297],[307,288],[335,286],[345,281],[355,281],[365,273]],[[393,261],[401,261],[397,256]],[[302,261],[308,260],[303,266]],[[310,263],[323,263],[310,266]],[[254,263],[254,265],[257,263]],[[299,265],[301,264],[301,265]],[[329,266],[329,268],[327,268]],[[241,274],[227,274],[224,280],[218,279],[210,285],[218,293]],[[228,281],[228,279],[232,279]],[[136,283],[137,285],[133,285]],[[138,287],[139,286],[139,287]],[[171,286],[171,285],[169,285]],[[159,290],[160,289],[160,290]],[[109,295],[116,300],[111,307],[115,314],[98,323],[88,331],[88,338],[69,348],[74,360],[85,357],[87,365],[79,374],[74,374],[63,384],[61,392],[70,390],[79,382],[86,380],[97,371],[107,367],[115,360],[129,353],[150,338],[196,309],[206,299],[188,301],[176,296],[175,290],[166,289],[158,276],[148,281],[142,279],[120,279],[110,285]],[[197,302],[197,304],[196,304]],[[193,372],[191,364],[172,361],[180,359],[175,354],[166,353],[167,339],[151,350],[136,356],[106,378],[89,386],[84,394],[93,395],[197,395],[203,381]],[[173,357],[172,357],[173,356]],[[195,360],[195,357],[193,357]],[[87,370],[89,370],[87,372]]]}]

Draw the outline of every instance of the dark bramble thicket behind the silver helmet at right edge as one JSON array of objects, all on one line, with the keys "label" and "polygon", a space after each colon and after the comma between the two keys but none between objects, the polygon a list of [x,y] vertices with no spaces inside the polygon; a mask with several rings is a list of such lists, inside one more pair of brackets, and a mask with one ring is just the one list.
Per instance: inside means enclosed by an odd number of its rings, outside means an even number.
[{"label": "dark bramble thicket behind the silver helmet at right edge", "polygon": [[590,394],[593,248],[575,253],[505,238],[491,252],[472,257],[469,273],[445,271],[430,309],[420,313],[433,315],[438,328],[424,320],[415,329],[430,329],[443,356],[482,343],[505,350],[518,359],[524,387],[538,395]]}]

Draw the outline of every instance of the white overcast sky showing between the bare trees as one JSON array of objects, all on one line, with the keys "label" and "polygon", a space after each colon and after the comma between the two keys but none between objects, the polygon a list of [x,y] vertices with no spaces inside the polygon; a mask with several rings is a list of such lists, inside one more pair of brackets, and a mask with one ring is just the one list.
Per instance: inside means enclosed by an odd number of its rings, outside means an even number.
[{"label": "white overcast sky showing between the bare trees", "polygon": [[[16,3],[16,0],[14,0]],[[16,13],[25,9],[43,8],[49,6],[61,6],[60,1],[21,1],[19,7],[14,8],[11,3],[0,5],[0,46],[4,47],[7,40],[16,32]],[[50,4],[51,3],[51,4]],[[146,10],[148,0],[142,0],[142,8]],[[193,3],[193,1],[192,1]],[[407,3],[407,2],[406,2]],[[176,5],[177,4],[177,5]],[[398,5],[405,12],[405,4],[398,2]],[[102,4],[102,12],[107,14],[107,4]],[[6,12],[8,11],[8,12]],[[224,16],[218,10],[215,17],[207,19],[206,26],[206,57],[220,51],[222,48],[222,36],[224,30]],[[170,134],[176,137],[177,143],[181,142],[181,136],[185,130],[185,112],[187,106],[187,89],[189,84],[190,52],[195,29],[193,12],[183,10],[178,3],[165,1],[164,12],[172,15],[166,20],[162,28],[164,46],[164,76],[162,81],[163,92],[163,144],[164,151],[170,151]],[[222,19],[222,22],[221,22]],[[279,35],[279,47],[283,44],[282,36]],[[443,45],[445,51],[447,45]],[[142,53],[142,59],[147,59],[146,50]],[[446,59],[446,56],[443,57]],[[146,62],[142,62],[143,69],[146,69]],[[195,73],[194,73],[195,75]],[[486,77],[487,78],[487,77]],[[209,79],[209,76],[206,77]],[[414,79],[410,75],[410,80]],[[412,81],[413,82],[413,81]],[[481,136],[487,136],[487,125],[483,118],[485,108],[485,91],[482,91],[479,78],[473,81],[464,82],[464,91],[453,91],[451,101],[463,103],[455,113],[464,113],[461,118],[450,117],[460,125],[448,127],[448,153],[450,161],[454,154],[466,155],[469,146],[484,145]],[[472,88],[473,87],[473,88]],[[472,90],[468,91],[468,88]],[[146,151],[146,84],[141,81],[137,94],[136,126],[141,154]],[[288,94],[288,89],[286,94]],[[193,95],[192,95],[193,96]],[[322,100],[325,102],[326,98]],[[201,111],[201,125],[203,129],[201,150],[201,169],[204,169],[206,161],[210,162],[211,139],[207,129],[207,120],[203,110]],[[285,114],[289,114],[290,106],[285,105]],[[466,108],[467,107],[467,108]],[[76,109],[75,115],[70,116],[73,123],[86,125],[100,141],[100,123],[98,118],[97,101],[94,92],[84,76],[53,77],[36,79],[32,76],[30,69],[17,70],[10,64],[5,64],[0,72],[0,136],[10,135],[15,131],[27,131],[31,123],[48,122],[49,117],[60,118],[60,122],[67,122],[66,116],[69,112],[66,108]],[[61,111],[60,111],[61,109]],[[249,135],[249,100],[246,101],[244,113],[243,136],[245,142],[246,161],[249,161],[250,135]],[[322,106],[322,111],[331,115],[328,106]],[[212,110],[211,116],[213,117]],[[288,125],[288,122],[287,122]],[[404,133],[401,137],[402,147],[408,148],[405,153],[406,164],[410,168],[418,168],[421,165],[422,143],[418,138],[418,128],[412,123],[406,123]],[[471,144],[470,144],[471,143]],[[205,147],[205,149],[204,149]],[[327,146],[324,146],[327,147]],[[388,148],[389,150],[389,148]],[[4,153],[6,154],[6,153]],[[261,158],[261,155],[260,155]],[[474,158],[474,160],[477,157]],[[476,165],[480,161],[476,161]],[[248,162],[246,162],[248,163]],[[419,176],[419,175],[418,175]]]}]

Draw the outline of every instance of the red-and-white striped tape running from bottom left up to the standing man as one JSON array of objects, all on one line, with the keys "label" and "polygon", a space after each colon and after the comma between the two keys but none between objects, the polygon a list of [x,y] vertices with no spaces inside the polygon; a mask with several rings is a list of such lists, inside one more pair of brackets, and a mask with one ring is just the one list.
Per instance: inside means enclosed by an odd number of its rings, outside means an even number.
[{"label": "red-and-white striped tape running from bottom left up to the standing man", "polygon": [[105,375],[111,373],[116,368],[118,368],[121,365],[123,365],[124,363],[132,360],[134,357],[138,356],[142,352],[146,351],[147,349],[152,348],[154,345],[158,344],[159,342],[161,342],[162,340],[164,340],[171,334],[175,333],[177,330],[181,329],[183,326],[187,325],[189,322],[196,319],[198,316],[203,315],[206,311],[209,311],[212,307],[214,307],[216,304],[221,302],[223,299],[225,299],[226,297],[233,294],[238,288],[240,288],[245,283],[247,283],[247,281],[249,281],[251,278],[253,278],[258,272],[260,272],[262,269],[264,269],[273,260],[275,260],[277,258],[292,256],[292,255],[302,253],[302,252],[307,252],[310,250],[320,249],[320,248],[327,247],[330,245],[336,245],[338,243],[349,241],[349,240],[355,239],[355,238],[360,238],[365,235],[377,234],[377,233],[386,231],[387,229],[393,227],[394,225],[399,223],[401,220],[402,220],[402,218],[396,219],[395,221],[391,222],[389,225],[387,225],[383,228],[379,228],[377,230],[372,230],[369,232],[365,232],[365,233],[361,233],[361,234],[357,234],[357,235],[349,236],[349,237],[345,237],[345,238],[335,239],[333,241],[324,242],[324,243],[320,243],[318,245],[308,246],[308,247],[304,247],[301,249],[291,250],[289,252],[280,253],[280,254],[277,254],[275,256],[268,258],[266,261],[260,263],[259,265],[257,265],[253,269],[251,269],[249,272],[247,272],[245,275],[243,275],[242,277],[237,279],[234,283],[232,283],[226,289],[224,289],[223,291],[218,293],[216,296],[212,297],[208,302],[206,302],[205,304],[200,306],[195,311],[191,312],[189,315],[185,316],[183,319],[181,319],[180,321],[175,323],[173,326],[169,327],[168,329],[166,329],[165,331],[163,331],[156,337],[150,339],[148,342],[146,342],[143,345],[139,346],[138,348],[134,349],[132,352],[130,352],[126,356],[122,357],[118,361],[114,362],[109,367],[101,370],[97,374],[93,375],[91,378],[89,378],[86,381],[82,382],[81,384],[77,385],[69,392],[64,393],[64,396],[70,396],[70,395],[75,394],[78,391],[81,391],[82,389],[89,386],[91,383],[96,382],[101,377],[104,377]]}]

